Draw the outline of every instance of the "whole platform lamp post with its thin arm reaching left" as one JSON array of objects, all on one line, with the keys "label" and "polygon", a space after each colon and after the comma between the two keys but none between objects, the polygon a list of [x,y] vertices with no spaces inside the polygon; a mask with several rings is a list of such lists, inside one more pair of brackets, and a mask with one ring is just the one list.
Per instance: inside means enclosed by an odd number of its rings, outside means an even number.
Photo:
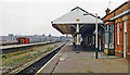
[{"label": "whole platform lamp post with its thin arm reaching left", "polygon": [[[95,59],[98,59],[98,13],[93,13],[95,14]],[[83,15],[93,15],[91,13],[86,13]]]}]

